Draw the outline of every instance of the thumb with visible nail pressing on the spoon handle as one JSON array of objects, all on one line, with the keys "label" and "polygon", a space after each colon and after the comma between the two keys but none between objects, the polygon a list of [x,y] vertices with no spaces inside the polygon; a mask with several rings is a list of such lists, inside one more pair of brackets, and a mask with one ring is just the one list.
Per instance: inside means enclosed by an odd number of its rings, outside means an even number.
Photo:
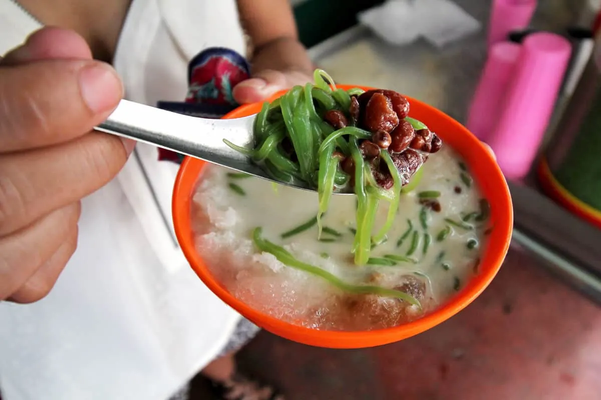
[{"label": "thumb with visible nail pressing on the spoon handle", "polygon": [[92,60],[37,61],[0,68],[0,153],[79,137],[115,109],[117,73]]}]

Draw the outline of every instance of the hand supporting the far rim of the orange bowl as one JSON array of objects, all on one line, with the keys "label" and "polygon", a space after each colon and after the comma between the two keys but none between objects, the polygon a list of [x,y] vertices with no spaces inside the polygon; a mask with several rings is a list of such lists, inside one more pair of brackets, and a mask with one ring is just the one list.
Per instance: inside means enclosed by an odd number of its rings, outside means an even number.
[{"label": "hand supporting the far rim of the orange bowl", "polygon": [[310,76],[300,71],[263,70],[234,87],[234,100],[239,104],[256,103],[265,100],[275,92],[312,81]]}]

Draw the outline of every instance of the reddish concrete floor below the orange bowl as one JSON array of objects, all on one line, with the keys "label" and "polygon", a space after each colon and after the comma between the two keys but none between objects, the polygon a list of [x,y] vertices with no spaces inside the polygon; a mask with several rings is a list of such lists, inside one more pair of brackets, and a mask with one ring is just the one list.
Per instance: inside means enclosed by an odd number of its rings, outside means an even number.
[{"label": "reddish concrete floor below the orange bowl", "polygon": [[[601,308],[512,250],[471,306],[421,335],[329,350],[261,332],[239,359],[289,400],[597,400]],[[210,399],[198,383],[192,395]]]}]

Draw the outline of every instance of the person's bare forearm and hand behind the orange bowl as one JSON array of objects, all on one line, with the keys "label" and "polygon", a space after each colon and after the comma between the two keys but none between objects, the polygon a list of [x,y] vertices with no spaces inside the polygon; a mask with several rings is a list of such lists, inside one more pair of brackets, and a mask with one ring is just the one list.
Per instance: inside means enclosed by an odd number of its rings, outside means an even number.
[{"label": "person's bare forearm and hand behind the orange bowl", "polygon": [[234,88],[239,103],[261,101],[274,92],[311,80],[313,63],[298,40],[287,0],[237,0],[240,20],[251,39],[252,79]]}]

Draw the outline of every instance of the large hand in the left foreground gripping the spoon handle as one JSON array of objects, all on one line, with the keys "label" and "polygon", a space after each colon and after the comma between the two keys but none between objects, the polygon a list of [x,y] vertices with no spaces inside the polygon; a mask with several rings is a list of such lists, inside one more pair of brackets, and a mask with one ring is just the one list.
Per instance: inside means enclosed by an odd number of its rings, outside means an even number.
[{"label": "large hand in the left foreground gripping the spoon handle", "polygon": [[91,132],[122,94],[75,32],[41,29],[0,58],[0,300],[46,296],[75,251],[80,200],[133,149]]}]

